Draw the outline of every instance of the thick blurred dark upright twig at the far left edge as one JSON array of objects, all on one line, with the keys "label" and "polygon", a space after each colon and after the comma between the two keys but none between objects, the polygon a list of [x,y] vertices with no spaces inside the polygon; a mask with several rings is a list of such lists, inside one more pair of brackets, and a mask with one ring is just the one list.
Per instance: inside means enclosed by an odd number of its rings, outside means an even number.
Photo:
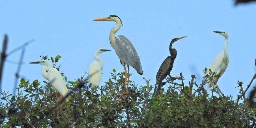
[{"label": "thick blurred dark upright twig at the far left edge", "polygon": [[2,47],[2,52],[1,52],[1,61],[0,61],[0,89],[1,89],[1,80],[2,80],[2,73],[3,73],[3,63],[6,57],[6,47],[7,47],[7,42],[8,42],[8,37],[5,34],[4,35],[4,40],[3,40],[3,47]]}]

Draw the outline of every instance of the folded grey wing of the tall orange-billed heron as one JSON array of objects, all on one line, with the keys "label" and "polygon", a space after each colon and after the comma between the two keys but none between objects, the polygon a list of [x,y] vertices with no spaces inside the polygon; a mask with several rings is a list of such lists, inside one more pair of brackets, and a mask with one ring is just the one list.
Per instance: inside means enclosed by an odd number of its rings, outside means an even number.
[{"label": "folded grey wing of the tall orange-billed heron", "polygon": [[137,54],[137,51],[132,43],[124,35],[116,36],[115,52],[121,61],[136,69],[140,75],[143,74],[140,58]]}]

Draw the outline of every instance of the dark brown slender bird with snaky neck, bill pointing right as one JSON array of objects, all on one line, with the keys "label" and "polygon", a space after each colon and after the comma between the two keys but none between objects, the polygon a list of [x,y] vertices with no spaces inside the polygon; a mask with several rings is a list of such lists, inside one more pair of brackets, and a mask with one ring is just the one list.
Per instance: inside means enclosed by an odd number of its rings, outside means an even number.
[{"label": "dark brown slender bird with snaky neck, bill pointing right", "polygon": [[[185,37],[187,37],[187,36],[185,36]],[[157,90],[156,90],[156,85],[155,85],[155,91],[156,91],[157,95],[159,95],[159,93],[160,93],[160,90],[161,90],[161,87],[162,87],[162,80],[165,79],[165,77],[167,75],[169,75],[172,78],[170,73],[171,73],[171,70],[172,70],[172,67],[173,67],[173,62],[174,62],[174,60],[177,56],[177,51],[176,51],[175,48],[172,48],[172,44],[175,41],[180,40],[180,39],[185,38],[185,37],[174,38],[174,39],[172,39],[172,41],[170,43],[169,51],[170,51],[171,56],[168,56],[165,59],[165,61],[162,62],[162,65],[160,66],[160,68],[158,69],[158,72],[156,74]],[[155,94],[155,91],[154,91],[154,94]]]}]

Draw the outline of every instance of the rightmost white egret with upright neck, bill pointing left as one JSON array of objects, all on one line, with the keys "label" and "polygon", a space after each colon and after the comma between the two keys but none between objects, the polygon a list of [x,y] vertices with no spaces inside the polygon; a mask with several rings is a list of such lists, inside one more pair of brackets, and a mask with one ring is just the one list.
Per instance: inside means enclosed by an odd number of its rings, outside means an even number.
[{"label": "rightmost white egret with upright neck, bill pointing left", "polygon": [[[228,32],[227,31],[214,31],[214,32],[219,33],[225,37],[224,50],[221,51],[216,56],[216,58],[214,59],[214,61],[208,68],[208,69],[211,69],[212,72],[215,72],[216,75],[219,75],[219,77],[218,76],[213,77],[213,82],[217,83],[218,79],[223,75],[223,73],[225,72],[225,70],[228,67],[228,61],[229,61],[228,60],[228,52],[227,52]],[[208,83],[209,88],[211,88],[211,87],[214,88],[213,82]]]}]

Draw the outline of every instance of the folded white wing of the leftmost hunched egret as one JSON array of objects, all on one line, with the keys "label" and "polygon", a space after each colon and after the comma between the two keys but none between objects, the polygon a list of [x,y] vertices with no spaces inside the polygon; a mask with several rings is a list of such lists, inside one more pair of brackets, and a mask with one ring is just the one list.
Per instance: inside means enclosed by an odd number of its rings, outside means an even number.
[{"label": "folded white wing of the leftmost hunched egret", "polygon": [[[56,68],[50,68],[48,74],[49,82],[63,97],[65,97],[69,91],[59,71]],[[69,98],[70,96],[66,99],[66,101],[68,101]]]}]

